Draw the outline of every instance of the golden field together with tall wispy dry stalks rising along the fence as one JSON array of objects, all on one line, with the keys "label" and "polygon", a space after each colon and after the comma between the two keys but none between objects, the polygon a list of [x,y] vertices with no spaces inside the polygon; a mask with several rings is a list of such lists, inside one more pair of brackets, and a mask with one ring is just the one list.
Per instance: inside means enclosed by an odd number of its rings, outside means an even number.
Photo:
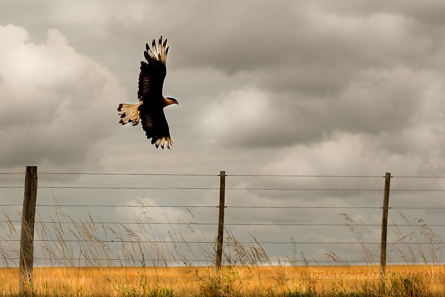
[{"label": "golden field together with tall wispy dry stalks rising along the fence", "polygon": [[[14,243],[20,236],[5,214],[6,222],[0,223],[3,231],[0,232],[0,256],[5,267],[0,268],[0,296],[445,297],[445,265],[441,265],[445,242],[422,219],[411,219],[402,213],[400,216],[408,230],[402,232],[394,223],[393,235],[401,244],[390,247],[395,256],[389,263],[406,264],[388,265],[385,283],[381,286],[380,267],[374,265],[379,262],[376,256],[379,251],[369,250],[357,224],[346,214],[340,215],[345,218],[349,232],[357,236],[360,243],[353,247],[360,252],[365,265],[346,266],[347,262],[333,251],[324,254],[332,260],[332,266],[312,265],[291,237],[292,251],[284,259],[286,265],[274,266],[253,236],[246,244],[226,230],[223,257],[224,263],[231,265],[217,272],[214,267],[205,266],[207,264],[194,266],[196,259],[209,262],[214,259],[214,244],[194,249],[190,239],[173,224],[170,231],[161,232],[143,205],[141,214],[135,216],[135,224],[111,226],[96,224],[92,218],[77,222],[57,207],[56,199],[55,205],[56,218],[51,223],[41,223],[36,232],[42,250],[40,259],[43,259],[36,266],[44,267],[34,268],[34,284],[22,291],[19,269],[14,268],[18,265],[14,259],[19,250]],[[60,222],[70,222],[70,225]],[[196,236],[194,241],[206,241],[197,222],[187,227]],[[114,244],[120,246],[112,249],[107,238],[113,238]],[[78,267],[81,257],[88,267]],[[170,265],[167,261],[170,258],[184,266],[166,267]],[[300,263],[303,265],[298,265]],[[143,264],[147,266],[139,266]]]}]

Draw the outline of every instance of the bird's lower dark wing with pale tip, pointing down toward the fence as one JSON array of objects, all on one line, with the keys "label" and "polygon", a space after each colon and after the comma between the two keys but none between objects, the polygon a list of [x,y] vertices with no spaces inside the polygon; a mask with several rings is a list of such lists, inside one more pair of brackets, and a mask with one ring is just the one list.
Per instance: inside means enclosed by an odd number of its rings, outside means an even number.
[{"label": "bird's lower dark wing with pale tip, pointing down toward the fence", "polygon": [[170,145],[173,142],[170,138],[170,131],[162,107],[151,109],[149,113],[143,112],[141,121],[145,135],[147,135],[148,139],[152,139],[151,143],[155,144],[156,148],[160,145],[164,149],[165,144],[170,149]]}]

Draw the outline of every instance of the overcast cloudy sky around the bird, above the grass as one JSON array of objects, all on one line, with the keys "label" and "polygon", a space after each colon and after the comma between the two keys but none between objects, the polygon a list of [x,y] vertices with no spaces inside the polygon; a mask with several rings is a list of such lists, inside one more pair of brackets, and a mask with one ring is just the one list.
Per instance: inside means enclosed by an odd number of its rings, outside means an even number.
[{"label": "overcast cloudy sky around the bird, above the grass", "polygon": [[[445,188],[440,178],[400,177],[445,176],[443,1],[6,0],[1,7],[0,172],[24,172],[26,165],[38,166],[42,173],[217,175],[224,170],[232,188],[349,190],[383,189],[381,176],[391,172],[396,189]],[[175,145],[171,150],[156,149],[140,126],[119,125],[116,111],[120,103],[137,103],[145,43],[161,35],[170,47],[164,95],[179,101],[164,110]],[[23,184],[23,175],[2,178],[5,186]],[[39,185],[52,187],[199,188],[218,183],[217,176],[39,176]],[[4,204],[21,203],[23,189],[17,196],[1,190]],[[55,195],[61,204],[135,205],[139,199],[157,206],[217,205],[218,194],[173,189],[40,192],[41,203]],[[382,204],[381,191],[227,194],[232,206]],[[444,203],[440,192],[400,191],[392,206],[443,208]],[[345,212],[366,224],[381,220],[379,209],[330,209],[328,214],[322,209],[228,210],[234,223],[321,224],[326,217],[342,224],[338,214]],[[77,208],[72,216],[86,211]],[[172,221],[188,214],[162,211]],[[440,224],[443,216],[443,210],[405,211],[431,224]],[[131,212],[138,210],[102,210],[101,215],[122,222]],[[398,216],[396,211],[390,215]],[[42,216],[49,214],[42,210]],[[202,216],[215,220],[213,214]],[[301,242],[333,242],[350,235],[344,227],[236,228],[241,239],[249,231],[264,241],[292,236]],[[443,227],[435,231],[445,234]],[[376,239],[379,232],[378,226],[370,230]],[[280,257],[290,250],[267,248]],[[298,248],[325,259],[324,251],[342,254],[348,246]]]}]

